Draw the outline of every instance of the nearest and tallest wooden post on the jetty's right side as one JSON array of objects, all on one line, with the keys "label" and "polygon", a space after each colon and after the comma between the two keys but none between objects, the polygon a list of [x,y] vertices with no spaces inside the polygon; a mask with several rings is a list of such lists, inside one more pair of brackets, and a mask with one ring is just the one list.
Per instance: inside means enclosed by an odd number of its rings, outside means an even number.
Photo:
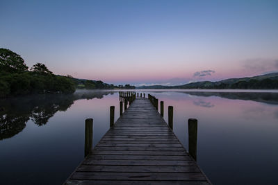
[{"label": "nearest and tallest wooden post on the jetty's right side", "polygon": [[197,161],[197,119],[188,119],[188,152]]}]

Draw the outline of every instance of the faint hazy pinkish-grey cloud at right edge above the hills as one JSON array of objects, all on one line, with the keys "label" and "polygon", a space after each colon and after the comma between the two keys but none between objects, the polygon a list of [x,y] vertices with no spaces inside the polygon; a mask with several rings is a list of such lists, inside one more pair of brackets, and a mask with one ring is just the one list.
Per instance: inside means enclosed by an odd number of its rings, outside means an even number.
[{"label": "faint hazy pinkish-grey cloud at right edge above the hills", "polygon": [[243,69],[252,72],[265,73],[278,70],[278,59],[255,58],[243,62]]}]

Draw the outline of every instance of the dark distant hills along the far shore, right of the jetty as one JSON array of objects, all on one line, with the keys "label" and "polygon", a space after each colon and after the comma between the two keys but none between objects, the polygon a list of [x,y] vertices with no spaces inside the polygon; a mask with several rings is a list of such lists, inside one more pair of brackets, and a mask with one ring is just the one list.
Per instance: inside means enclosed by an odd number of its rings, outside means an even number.
[{"label": "dark distant hills along the far shore, right of the jetty", "polygon": [[141,86],[136,89],[278,89],[278,73],[245,78],[229,78],[218,82],[191,82],[175,86]]}]

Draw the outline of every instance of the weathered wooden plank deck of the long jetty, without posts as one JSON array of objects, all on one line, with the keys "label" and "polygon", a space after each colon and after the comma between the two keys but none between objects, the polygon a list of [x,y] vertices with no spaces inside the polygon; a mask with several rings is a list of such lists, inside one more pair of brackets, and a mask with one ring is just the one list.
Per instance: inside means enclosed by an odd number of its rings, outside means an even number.
[{"label": "weathered wooden plank deck of the long jetty, without posts", "polygon": [[65,184],[211,184],[147,98],[136,98]]}]

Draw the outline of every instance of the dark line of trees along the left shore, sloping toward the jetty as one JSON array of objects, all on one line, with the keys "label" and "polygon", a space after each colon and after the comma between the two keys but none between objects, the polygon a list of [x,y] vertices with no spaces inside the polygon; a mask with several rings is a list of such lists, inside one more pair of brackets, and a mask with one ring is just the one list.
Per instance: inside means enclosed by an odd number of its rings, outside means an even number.
[{"label": "dark line of trees along the left shore, sloping toward the jetty", "polygon": [[108,85],[101,80],[81,80],[55,75],[40,62],[30,69],[9,49],[0,49],[0,98],[25,94],[72,94],[78,89],[135,89],[131,85]]}]

